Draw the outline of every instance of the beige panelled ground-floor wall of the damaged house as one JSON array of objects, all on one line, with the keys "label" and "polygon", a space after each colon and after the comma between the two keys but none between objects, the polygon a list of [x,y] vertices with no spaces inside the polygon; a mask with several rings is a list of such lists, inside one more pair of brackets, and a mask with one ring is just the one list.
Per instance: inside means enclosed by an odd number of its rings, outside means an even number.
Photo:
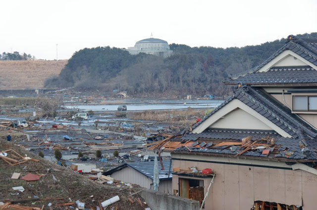
[{"label": "beige panelled ground-floor wall of the damaged house", "polygon": [[[196,158],[201,160],[202,156]],[[212,160],[212,157],[209,159]],[[173,168],[196,166],[198,170],[211,168],[216,171],[205,210],[249,210],[257,200],[287,205],[303,204],[303,210],[316,209],[314,195],[317,194],[317,175],[303,170],[277,169],[272,166],[265,168],[264,164],[254,167],[180,160],[173,160],[172,164]],[[173,190],[179,190],[178,178],[173,175]],[[206,195],[211,178],[203,180]]]}]

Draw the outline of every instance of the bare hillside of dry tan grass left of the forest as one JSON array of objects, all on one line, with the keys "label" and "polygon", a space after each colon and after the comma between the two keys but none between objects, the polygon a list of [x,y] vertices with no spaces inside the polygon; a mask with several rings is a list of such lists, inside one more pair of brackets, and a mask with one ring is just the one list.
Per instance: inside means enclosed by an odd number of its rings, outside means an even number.
[{"label": "bare hillside of dry tan grass left of the forest", "polygon": [[67,61],[0,61],[0,89],[43,88],[45,80],[59,75]]}]

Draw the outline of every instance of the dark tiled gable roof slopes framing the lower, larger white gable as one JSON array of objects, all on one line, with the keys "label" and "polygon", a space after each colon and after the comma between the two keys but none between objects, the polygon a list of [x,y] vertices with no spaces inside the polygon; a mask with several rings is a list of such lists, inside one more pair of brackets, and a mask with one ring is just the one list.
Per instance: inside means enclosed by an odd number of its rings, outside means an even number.
[{"label": "dark tiled gable roof slopes framing the lower, larger white gable", "polygon": [[283,129],[293,138],[299,137],[302,133],[314,138],[317,136],[317,132],[306,122],[281,106],[279,102],[276,102],[275,99],[265,94],[261,89],[250,86],[240,87],[236,90],[234,95],[216,107],[209,115],[205,116],[205,118],[195,124],[192,128],[194,129],[205,122],[209,117],[211,117],[211,115],[220,110],[233,99],[240,100],[274,123],[276,126]]}]

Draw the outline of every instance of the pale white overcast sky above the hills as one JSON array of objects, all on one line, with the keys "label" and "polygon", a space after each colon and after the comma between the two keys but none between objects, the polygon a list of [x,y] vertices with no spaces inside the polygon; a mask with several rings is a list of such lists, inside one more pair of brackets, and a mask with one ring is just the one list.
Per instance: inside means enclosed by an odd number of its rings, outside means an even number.
[{"label": "pale white overcast sky above the hills", "polygon": [[317,0],[2,0],[0,53],[68,59],[150,38],[190,46],[261,44],[317,32]]}]

